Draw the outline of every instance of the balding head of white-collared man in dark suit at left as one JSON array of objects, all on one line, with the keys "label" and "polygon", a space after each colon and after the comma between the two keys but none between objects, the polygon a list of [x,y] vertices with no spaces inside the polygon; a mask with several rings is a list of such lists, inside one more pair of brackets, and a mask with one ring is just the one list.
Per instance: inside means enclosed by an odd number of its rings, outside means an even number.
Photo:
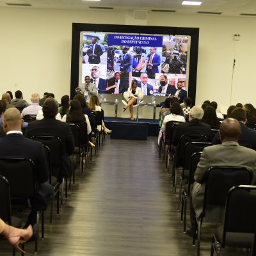
[{"label": "balding head of white-collared man in dark suit at left", "polygon": [[23,120],[17,108],[8,108],[3,115],[3,128],[5,132],[21,131]]}]

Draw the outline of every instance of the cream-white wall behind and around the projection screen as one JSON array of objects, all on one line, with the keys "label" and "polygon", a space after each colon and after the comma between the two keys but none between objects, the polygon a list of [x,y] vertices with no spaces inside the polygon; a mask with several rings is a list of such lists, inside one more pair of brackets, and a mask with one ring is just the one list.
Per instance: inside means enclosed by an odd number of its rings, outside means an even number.
[{"label": "cream-white wall behind and around the projection screen", "polygon": [[1,93],[21,90],[26,100],[33,92],[52,92],[57,100],[69,94],[72,22],[200,28],[196,104],[230,104],[234,52],[231,104],[255,104],[255,19],[148,13],[147,20],[135,20],[133,12],[120,10],[0,8]]}]

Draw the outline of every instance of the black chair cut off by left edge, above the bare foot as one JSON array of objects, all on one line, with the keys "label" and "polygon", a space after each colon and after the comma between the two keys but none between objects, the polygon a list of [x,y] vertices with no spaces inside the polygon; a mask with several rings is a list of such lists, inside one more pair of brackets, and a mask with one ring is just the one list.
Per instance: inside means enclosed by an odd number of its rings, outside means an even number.
[{"label": "black chair cut off by left edge, above the bare foot", "polygon": [[[16,228],[21,228],[20,218],[12,216],[11,207],[11,196],[10,196],[10,186],[8,180],[0,175],[0,218]],[[22,244],[22,250],[24,250],[24,244]],[[15,256],[15,248],[13,248],[13,256]],[[22,253],[21,255],[24,255]]]}]

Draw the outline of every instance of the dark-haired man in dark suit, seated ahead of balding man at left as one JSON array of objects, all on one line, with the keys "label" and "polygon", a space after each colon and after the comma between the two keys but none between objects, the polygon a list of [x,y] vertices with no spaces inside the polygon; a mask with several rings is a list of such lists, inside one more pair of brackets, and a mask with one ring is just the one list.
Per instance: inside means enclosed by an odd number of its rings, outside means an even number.
[{"label": "dark-haired man in dark suit, seated ahead of balding man at left", "polygon": [[55,99],[46,99],[42,111],[44,118],[30,122],[26,136],[28,138],[34,135],[57,136],[61,139],[62,172],[60,173],[60,177],[57,177],[58,181],[61,182],[63,177],[70,177],[74,170],[74,163],[72,163],[69,157],[74,150],[74,136],[67,123],[56,120],[58,102]]}]

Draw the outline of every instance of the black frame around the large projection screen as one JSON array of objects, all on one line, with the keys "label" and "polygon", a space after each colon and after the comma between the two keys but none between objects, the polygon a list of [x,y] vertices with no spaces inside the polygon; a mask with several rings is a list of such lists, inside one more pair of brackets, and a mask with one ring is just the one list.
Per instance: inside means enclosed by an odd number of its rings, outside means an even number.
[{"label": "black frame around the large projection screen", "polygon": [[191,99],[193,99],[193,101],[195,102],[199,28],[72,23],[72,52],[71,52],[71,76],[70,76],[70,98],[71,99],[73,99],[76,93],[76,87],[79,84],[80,34],[82,31],[95,31],[95,33],[111,32],[111,33],[134,33],[139,35],[148,34],[148,35],[191,36],[189,74],[188,74],[188,81],[189,81],[188,97],[191,97]]}]

